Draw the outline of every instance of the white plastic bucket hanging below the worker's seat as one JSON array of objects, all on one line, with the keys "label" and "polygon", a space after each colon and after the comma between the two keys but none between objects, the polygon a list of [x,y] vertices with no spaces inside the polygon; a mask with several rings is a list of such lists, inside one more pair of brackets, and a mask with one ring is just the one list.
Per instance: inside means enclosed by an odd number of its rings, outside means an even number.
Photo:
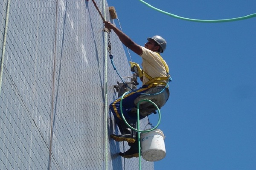
[{"label": "white plastic bucket hanging below the worker's seat", "polygon": [[166,156],[164,135],[160,129],[140,133],[140,144],[146,161],[159,161]]}]

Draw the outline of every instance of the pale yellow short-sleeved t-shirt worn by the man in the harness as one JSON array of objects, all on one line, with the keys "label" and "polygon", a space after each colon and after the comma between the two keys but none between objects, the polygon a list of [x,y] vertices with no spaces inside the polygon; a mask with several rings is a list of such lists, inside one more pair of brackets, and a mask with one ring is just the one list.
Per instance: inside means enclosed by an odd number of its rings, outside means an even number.
[{"label": "pale yellow short-sleeved t-shirt worn by the man in the harness", "polygon": [[[142,67],[143,67],[143,72],[147,73],[150,77],[155,78],[155,77],[166,77],[167,72],[166,68],[160,59],[160,54],[157,52],[153,52],[151,50],[148,50],[145,47],[142,47],[142,54],[140,57],[142,57]],[[164,61],[164,60],[163,60]],[[165,62],[165,61],[164,61]],[[166,62],[165,62],[166,64]],[[168,65],[166,64],[168,67]],[[149,79],[145,77],[145,74],[143,75],[143,85],[145,85],[146,82],[148,82]],[[167,81],[163,81],[167,83]]]}]

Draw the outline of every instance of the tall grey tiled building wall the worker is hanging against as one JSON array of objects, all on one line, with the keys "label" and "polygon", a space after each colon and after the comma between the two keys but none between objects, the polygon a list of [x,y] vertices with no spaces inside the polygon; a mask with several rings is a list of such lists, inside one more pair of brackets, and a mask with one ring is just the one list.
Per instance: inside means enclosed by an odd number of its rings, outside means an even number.
[{"label": "tall grey tiled building wall the worker is hanging against", "polygon": [[[111,20],[108,4],[95,1]],[[1,0],[0,51],[7,8],[8,0]],[[121,80],[109,58],[105,63],[103,28],[90,0],[10,1],[1,58],[1,170],[103,170],[106,164],[108,170],[139,169],[138,158],[118,156],[128,145],[109,138],[118,129],[109,110],[105,117],[105,97],[108,104],[117,97],[113,85]],[[111,44],[119,74],[131,76],[123,46],[113,32]],[[154,165],[142,159],[142,169],[153,170]]]}]

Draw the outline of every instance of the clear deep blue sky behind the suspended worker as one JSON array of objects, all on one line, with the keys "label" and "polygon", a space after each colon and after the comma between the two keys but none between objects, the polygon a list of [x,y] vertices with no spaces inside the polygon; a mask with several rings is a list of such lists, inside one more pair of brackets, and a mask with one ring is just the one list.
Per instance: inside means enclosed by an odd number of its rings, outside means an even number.
[{"label": "clear deep blue sky behind the suspended worker", "polygon": [[[145,2],[201,20],[256,13],[255,0]],[[256,17],[195,23],[139,0],[108,0],[108,5],[116,8],[122,30],[137,44],[157,34],[167,41],[162,56],[173,81],[159,126],[166,136],[166,157],[154,163],[155,170],[256,170]],[[131,58],[141,63],[133,52]]]}]

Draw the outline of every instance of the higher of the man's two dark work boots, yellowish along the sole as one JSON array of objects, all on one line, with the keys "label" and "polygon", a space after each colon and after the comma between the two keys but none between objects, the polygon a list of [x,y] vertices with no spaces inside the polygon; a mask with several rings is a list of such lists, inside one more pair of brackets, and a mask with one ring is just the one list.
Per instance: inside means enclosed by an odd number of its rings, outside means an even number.
[{"label": "higher of the man's two dark work boots, yellowish along the sole", "polygon": [[[129,121],[128,124],[131,127],[136,128],[136,122],[134,121]],[[117,142],[122,142],[122,141],[126,141],[129,143],[134,143],[136,140],[136,131],[130,129],[124,121],[121,121],[118,123],[118,127],[120,132],[122,133],[121,135],[115,135],[115,134],[111,134],[110,137],[112,139],[114,139]]]}]

